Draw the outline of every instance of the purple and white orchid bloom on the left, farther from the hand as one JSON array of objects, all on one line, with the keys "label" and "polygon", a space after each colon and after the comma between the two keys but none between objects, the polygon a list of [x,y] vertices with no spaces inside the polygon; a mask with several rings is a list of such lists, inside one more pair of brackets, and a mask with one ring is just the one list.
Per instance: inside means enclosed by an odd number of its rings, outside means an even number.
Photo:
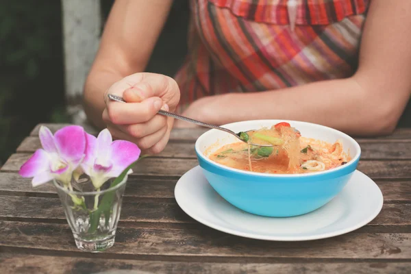
[{"label": "purple and white orchid bloom on the left, farther from the hand", "polygon": [[53,136],[49,128],[41,126],[38,136],[43,149],[38,149],[18,173],[22,177],[33,177],[33,186],[52,179],[70,184],[73,171],[85,157],[85,134],[83,127],[69,125],[59,129]]}]

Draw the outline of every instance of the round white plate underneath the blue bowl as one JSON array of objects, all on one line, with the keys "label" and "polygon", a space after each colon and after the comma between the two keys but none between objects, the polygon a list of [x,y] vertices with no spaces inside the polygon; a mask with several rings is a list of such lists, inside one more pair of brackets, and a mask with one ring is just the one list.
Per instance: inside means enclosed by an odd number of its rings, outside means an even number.
[{"label": "round white plate underneath the blue bowl", "polygon": [[355,171],[340,194],[322,208],[305,215],[271,218],[244,212],[212,188],[200,166],[184,174],[175,199],[189,216],[214,229],[260,240],[316,240],[358,229],[379,214],[383,197],[368,176]]}]

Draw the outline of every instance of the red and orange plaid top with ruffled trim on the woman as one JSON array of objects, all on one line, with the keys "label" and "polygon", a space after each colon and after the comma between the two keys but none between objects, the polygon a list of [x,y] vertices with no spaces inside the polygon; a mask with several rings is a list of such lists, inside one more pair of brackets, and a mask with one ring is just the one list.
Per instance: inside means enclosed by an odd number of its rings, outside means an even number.
[{"label": "red and orange plaid top with ruffled trim on the woman", "polygon": [[369,0],[190,0],[179,111],[204,96],[351,76]]}]

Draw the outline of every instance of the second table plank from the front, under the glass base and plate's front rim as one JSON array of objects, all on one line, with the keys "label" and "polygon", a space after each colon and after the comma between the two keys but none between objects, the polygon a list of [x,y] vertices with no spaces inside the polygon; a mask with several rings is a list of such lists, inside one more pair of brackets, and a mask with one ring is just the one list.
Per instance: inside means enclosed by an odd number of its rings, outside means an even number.
[{"label": "second table plank from the front, under the glass base and plate's front rim", "polygon": [[[0,245],[77,251],[68,225],[0,222]],[[115,245],[105,253],[134,256],[207,256],[252,258],[411,258],[411,234],[349,233],[325,240],[273,242],[203,229],[119,227]]]}]

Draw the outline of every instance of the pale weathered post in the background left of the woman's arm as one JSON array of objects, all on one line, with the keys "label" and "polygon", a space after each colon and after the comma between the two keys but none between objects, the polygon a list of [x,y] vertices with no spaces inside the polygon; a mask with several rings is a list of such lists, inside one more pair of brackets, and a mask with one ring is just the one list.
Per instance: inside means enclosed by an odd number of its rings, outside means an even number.
[{"label": "pale weathered post in the background left of the woman's arm", "polygon": [[71,123],[86,123],[84,82],[99,47],[100,0],[62,0],[65,96]]}]

